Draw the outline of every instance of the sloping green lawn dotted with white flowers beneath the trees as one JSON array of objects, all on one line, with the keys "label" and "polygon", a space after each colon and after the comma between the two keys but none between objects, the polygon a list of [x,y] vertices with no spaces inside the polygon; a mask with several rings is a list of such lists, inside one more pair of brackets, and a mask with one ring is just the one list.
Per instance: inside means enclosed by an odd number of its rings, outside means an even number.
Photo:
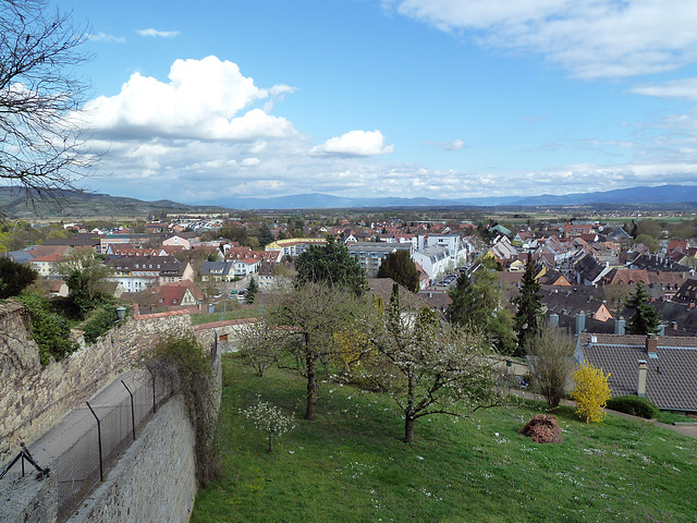
[{"label": "sloping green lawn dotted with white flowers beneath the trees", "polygon": [[[472,419],[421,418],[404,443],[392,401],[323,384],[319,416],[302,419],[305,382],[274,369],[253,376],[223,361],[223,476],[203,489],[196,522],[694,521],[697,441],[608,416],[586,425],[557,412],[561,445],[518,434],[541,404]],[[294,413],[272,454],[239,414],[261,398]],[[497,436],[496,433],[499,435]]]}]

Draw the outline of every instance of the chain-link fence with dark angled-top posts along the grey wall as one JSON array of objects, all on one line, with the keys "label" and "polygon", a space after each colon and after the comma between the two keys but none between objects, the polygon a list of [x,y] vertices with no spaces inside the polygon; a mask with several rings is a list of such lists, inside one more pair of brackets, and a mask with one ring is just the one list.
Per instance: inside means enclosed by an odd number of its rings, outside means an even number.
[{"label": "chain-link fence with dark angled-top posts along the grey wall", "polygon": [[[217,339],[209,351],[211,362],[219,362]],[[48,483],[24,479],[24,458],[2,471],[7,475],[0,484],[0,521],[5,518],[15,521],[19,511],[29,501],[25,498],[25,487],[32,484],[36,490],[30,497],[39,500],[34,503],[41,506],[40,511],[56,514],[53,521],[58,523],[68,521],[84,498],[107,479],[121,452],[179,387],[179,376],[171,365],[154,362],[124,375],[84,406],[71,411],[30,446],[30,453],[23,447],[23,452],[38,463],[37,467],[50,470]],[[27,473],[33,475],[35,471],[29,469]],[[39,494],[46,488],[50,492]],[[53,501],[47,501],[49,499]]]}]

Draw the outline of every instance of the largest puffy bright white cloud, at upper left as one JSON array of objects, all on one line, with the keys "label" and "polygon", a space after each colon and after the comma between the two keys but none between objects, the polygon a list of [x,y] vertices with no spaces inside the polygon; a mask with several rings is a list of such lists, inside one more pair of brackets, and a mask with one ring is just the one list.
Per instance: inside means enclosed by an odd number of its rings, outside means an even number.
[{"label": "largest puffy bright white cloud, at upper left", "polygon": [[295,134],[293,124],[253,106],[292,90],[285,85],[259,88],[235,63],[216,57],[176,60],[168,83],[135,73],[121,93],[98,97],[85,112],[96,135],[115,139],[278,138]]}]

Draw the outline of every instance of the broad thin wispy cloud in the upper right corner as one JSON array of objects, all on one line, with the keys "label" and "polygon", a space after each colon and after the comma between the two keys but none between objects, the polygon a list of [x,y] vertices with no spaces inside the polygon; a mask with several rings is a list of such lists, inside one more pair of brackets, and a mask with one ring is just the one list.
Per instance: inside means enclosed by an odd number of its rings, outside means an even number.
[{"label": "broad thin wispy cloud in the upper right corner", "polygon": [[539,53],[584,78],[676,70],[697,59],[697,3],[684,0],[383,0],[484,46]]}]

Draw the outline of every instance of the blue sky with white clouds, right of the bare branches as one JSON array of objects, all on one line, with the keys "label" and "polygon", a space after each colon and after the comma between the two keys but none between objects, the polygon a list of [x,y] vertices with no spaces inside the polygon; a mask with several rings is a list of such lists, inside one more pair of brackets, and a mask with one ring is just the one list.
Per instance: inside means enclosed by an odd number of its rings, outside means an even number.
[{"label": "blue sky with white clouds, right of the bare branches", "polygon": [[697,2],[58,0],[86,185],[469,198],[697,183]]}]

